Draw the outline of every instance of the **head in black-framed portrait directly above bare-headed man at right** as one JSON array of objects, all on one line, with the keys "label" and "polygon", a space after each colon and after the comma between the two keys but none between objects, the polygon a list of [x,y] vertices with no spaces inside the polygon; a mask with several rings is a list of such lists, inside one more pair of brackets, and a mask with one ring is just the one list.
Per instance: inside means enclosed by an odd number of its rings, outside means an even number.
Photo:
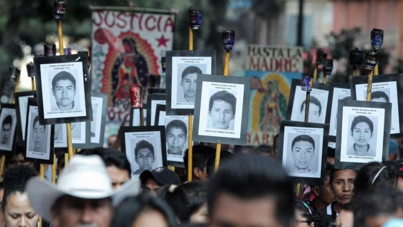
[{"label": "head in black-framed portrait directly above bare-headed man at right", "polygon": [[308,170],[315,151],[315,141],[308,135],[299,135],[291,143],[291,152],[295,167]]}]

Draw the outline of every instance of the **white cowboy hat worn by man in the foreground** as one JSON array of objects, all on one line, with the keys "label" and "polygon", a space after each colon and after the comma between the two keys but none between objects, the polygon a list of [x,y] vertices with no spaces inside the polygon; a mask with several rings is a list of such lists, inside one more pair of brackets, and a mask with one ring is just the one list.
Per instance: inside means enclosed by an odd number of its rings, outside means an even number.
[{"label": "white cowboy hat worn by man in the foreground", "polygon": [[54,202],[63,195],[83,199],[112,198],[116,206],[127,196],[139,193],[140,183],[128,181],[118,190],[112,189],[112,183],[102,159],[98,155],[75,155],[60,173],[56,185],[48,181],[32,178],[28,181],[26,192],[32,207],[42,217],[51,221],[50,209]]}]

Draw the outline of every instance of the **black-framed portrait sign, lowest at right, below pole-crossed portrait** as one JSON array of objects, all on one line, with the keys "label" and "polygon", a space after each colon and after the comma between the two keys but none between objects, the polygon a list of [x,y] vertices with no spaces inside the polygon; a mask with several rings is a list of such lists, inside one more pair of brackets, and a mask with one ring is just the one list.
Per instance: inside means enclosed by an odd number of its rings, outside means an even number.
[{"label": "black-framed portrait sign, lowest at right, below pole-crossed portrait", "polygon": [[323,184],[328,124],[280,121],[278,159],[288,175],[307,184]]}]

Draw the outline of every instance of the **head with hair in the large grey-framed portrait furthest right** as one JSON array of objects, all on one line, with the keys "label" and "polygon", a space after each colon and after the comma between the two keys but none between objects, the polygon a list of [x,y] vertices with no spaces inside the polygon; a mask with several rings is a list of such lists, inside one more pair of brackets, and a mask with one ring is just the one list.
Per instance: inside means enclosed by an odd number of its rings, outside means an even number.
[{"label": "head with hair in the large grey-framed portrait furthest right", "polygon": [[374,124],[365,116],[357,116],[351,124],[350,135],[354,139],[354,143],[360,146],[367,145],[374,135]]}]

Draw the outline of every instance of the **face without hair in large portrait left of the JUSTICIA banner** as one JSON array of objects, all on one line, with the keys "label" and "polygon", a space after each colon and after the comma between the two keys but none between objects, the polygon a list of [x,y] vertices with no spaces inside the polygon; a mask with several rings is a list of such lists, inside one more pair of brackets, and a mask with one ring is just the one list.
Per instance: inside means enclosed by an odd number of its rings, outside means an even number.
[{"label": "face without hair in large portrait left of the JUSTICIA banner", "polygon": [[62,107],[69,107],[73,104],[76,88],[70,80],[59,80],[52,88],[52,93],[56,98],[57,105],[61,109]]}]

